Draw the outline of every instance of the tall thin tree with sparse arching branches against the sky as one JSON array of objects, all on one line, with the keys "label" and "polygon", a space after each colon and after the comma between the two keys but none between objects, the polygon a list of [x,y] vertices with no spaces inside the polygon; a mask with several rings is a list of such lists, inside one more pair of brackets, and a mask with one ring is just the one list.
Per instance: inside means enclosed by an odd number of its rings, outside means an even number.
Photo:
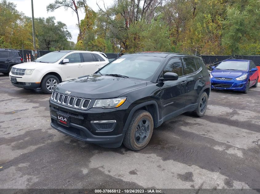
[{"label": "tall thin tree with sparse arching branches against the sky", "polygon": [[[83,2],[85,3],[85,1],[83,0]],[[68,10],[68,8],[72,9],[78,17],[78,6],[76,3],[76,0],[55,0],[54,3],[50,3],[47,6],[47,11],[51,11],[53,12],[54,10],[60,8],[60,7],[64,7],[65,10]],[[79,29],[79,37],[82,37],[82,32],[81,32],[81,28],[80,28],[80,21],[79,21],[79,17],[78,17],[78,29]]]}]

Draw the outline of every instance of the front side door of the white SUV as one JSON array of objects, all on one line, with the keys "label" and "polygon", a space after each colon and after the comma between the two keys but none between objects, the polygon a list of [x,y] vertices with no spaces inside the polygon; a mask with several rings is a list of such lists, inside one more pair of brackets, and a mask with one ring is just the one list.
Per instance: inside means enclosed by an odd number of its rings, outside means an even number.
[{"label": "front side door of the white SUV", "polygon": [[78,52],[71,53],[64,59],[69,59],[69,63],[61,64],[63,78],[65,78],[62,81],[84,76],[84,65],[81,55]]}]

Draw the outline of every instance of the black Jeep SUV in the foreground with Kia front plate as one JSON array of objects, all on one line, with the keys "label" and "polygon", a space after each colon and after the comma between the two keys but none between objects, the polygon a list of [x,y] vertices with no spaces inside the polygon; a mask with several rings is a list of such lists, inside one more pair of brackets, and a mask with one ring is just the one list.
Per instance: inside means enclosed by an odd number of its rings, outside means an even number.
[{"label": "black Jeep SUV in the foreground with Kia front plate", "polygon": [[141,150],[164,121],[187,111],[203,116],[210,88],[197,56],[123,55],[93,75],[58,84],[50,98],[51,127],[103,147]]}]

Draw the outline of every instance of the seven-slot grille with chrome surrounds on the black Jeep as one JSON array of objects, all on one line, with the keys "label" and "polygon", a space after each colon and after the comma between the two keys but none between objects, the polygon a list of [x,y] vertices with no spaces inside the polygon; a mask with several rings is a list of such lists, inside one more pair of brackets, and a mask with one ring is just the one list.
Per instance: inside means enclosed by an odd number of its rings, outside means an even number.
[{"label": "seven-slot grille with chrome surrounds on the black Jeep", "polygon": [[55,101],[56,103],[60,103],[65,106],[70,106],[79,109],[88,109],[91,101],[89,99],[69,96],[55,91],[53,91],[53,93],[51,94],[50,99],[52,101]]}]

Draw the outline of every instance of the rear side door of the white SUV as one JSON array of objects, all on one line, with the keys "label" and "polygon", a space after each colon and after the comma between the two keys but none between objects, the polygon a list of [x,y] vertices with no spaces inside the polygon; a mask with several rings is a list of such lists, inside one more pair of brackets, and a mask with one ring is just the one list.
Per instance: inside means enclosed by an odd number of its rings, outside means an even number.
[{"label": "rear side door of the white SUV", "polygon": [[82,52],[81,54],[84,60],[84,75],[95,73],[100,68],[98,59],[90,52]]}]

